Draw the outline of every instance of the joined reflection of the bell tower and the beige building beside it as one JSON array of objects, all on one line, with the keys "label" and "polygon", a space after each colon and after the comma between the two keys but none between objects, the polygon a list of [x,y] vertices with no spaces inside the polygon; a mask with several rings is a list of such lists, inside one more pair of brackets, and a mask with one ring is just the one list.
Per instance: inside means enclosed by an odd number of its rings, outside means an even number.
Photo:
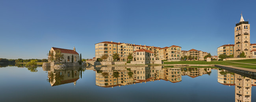
[{"label": "joined reflection of the bell tower and the beige building beside it", "polygon": [[256,86],[255,79],[218,69],[218,82],[235,86],[235,102],[251,102],[252,86]]}]

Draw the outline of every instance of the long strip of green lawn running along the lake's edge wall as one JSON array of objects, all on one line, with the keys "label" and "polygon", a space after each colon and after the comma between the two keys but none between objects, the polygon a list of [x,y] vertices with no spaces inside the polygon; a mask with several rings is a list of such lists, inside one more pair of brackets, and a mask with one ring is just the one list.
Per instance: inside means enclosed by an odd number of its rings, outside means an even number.
[{"label": "long strip of green lawn running along the lake's edge wall", "polygon": [[250,64],[240,64],[240,63],[232,63],[226,61],[178,61],[178,62],[164,62],[163,64],[221,64],[228,66],[251,66]]}]

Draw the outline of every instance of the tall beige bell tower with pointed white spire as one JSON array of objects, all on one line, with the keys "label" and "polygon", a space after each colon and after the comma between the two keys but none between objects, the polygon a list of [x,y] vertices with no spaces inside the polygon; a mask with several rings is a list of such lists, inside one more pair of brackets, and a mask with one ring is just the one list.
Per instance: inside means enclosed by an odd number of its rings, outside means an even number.
[{"label": "tall beige bell tower with pointed white spire", "polygon": [[245,52],[247,57],[250,57],[250,24],[249,21],[244,21],[241,15],[240,22],[236,24],[235,30],[235,45],[234,57],[239,57],[242,52]]}]

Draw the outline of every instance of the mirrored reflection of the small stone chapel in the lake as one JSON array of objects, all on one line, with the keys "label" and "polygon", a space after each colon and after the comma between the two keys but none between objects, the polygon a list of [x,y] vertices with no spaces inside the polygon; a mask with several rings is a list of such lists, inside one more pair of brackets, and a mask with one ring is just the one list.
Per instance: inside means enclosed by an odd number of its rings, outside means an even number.
[{"label": "mirrored reflection of the small stone chapel in the lake", "polygon": [[74,83],[74,86],[76,86],[76,81],[80,78],[81,72],[79,67],[64,69],[43,68],[43,70],[48,72],[48,82],[50,82],[51,86],[68,83]]}]

